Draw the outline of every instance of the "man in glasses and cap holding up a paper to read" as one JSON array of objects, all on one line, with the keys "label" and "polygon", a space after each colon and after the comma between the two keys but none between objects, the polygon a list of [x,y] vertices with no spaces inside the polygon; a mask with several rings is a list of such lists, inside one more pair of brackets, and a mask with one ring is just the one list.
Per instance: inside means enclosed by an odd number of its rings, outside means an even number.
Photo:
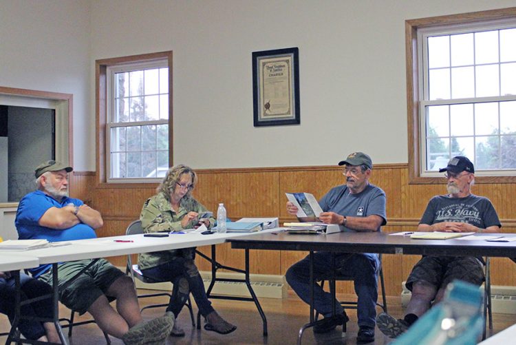
[{"label": "man in glasses and cap holding up a paper to read", "polygon": [[[344,165],[345,185],[330,189],[319,201],[323,213],[319,216],[326,224],[339,224],[347,231],[381,231],[387,222],[385,212],[385,193],[382,189],[369,183],[373,167],[367,154],[354,152],[338,165]],[[292,202],[287,202],[287,211],[295,216],[298,209]],[[333,255],[335,267],[332,267]],[[378,299],[378,254],[372,253],[328,253],[316,252],[314,258],[314,278],[332,273],[354,278],[354,287],[358,296],[358,344],[374,342],[376,326],[376,300]],[[310,303],[310,262],[308,257],[292,265],[286,273],[288,284],[301,297]],[[336,314],[332,313],[335,302]],[[326,333],[349,320],[343,307],[334,301],[330,293],[314,284],[314,309],[324,319],[314,326],[314,333]]]}]

